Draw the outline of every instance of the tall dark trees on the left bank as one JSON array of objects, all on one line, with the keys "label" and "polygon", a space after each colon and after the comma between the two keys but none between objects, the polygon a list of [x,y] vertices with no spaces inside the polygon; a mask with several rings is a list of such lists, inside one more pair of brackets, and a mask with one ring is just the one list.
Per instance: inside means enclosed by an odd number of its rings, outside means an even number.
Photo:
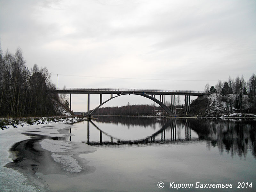
[{"label": "tall dark trees on the left bank", "polygon": [[0,69],[0,116],[56,115],[54,95],[47,92],[55,88],[47,68],[35,64],[29,70],[20,48],[12,54],[3,53],[0,46]]}]

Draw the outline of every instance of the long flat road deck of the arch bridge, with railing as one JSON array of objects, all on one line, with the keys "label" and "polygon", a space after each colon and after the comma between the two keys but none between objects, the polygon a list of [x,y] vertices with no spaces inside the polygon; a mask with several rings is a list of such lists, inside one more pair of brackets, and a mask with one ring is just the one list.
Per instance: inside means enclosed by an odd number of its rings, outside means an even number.
[{"label": "long flat road deck of the arch bridge, with railing", "polygon": [[[58,93],[57,89],[49,90],[52,93]],[[165,90],[165,89],[108,89],[108,88],[59,88],[59,93],[91,93],[91,94],[147,94],[147,95],[207,95],[204,91],[190,90]]]}]

